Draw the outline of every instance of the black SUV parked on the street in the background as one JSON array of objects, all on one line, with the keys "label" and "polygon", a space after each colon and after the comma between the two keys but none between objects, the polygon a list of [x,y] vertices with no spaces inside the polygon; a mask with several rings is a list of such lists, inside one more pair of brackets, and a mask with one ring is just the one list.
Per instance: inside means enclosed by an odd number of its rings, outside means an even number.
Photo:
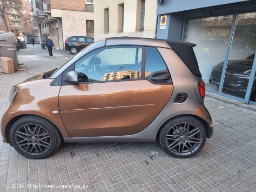
[{"label": "black SUV parked on the street in the background", "polygon": [[68,37],[65,40],[65,50],[70,51],[71,54],[75,55],[76,53],[78,53],[88,45],[92,44],[93,42],[94,42],[94,39],[91,37],[85,37],[85,36]]}]

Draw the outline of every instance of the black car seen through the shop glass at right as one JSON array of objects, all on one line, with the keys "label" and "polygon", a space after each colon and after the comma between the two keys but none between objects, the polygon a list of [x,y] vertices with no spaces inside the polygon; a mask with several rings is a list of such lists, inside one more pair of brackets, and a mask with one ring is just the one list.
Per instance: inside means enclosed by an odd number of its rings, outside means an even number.
[{"label": "black car seen through the shop glass at right", "polygon": [[[247,86],[250,79],[251,69],[253,65],[255,54],[250,55],[243,60],[229,60],[226,75],[223,84],[223,91],[225,93],[235,93],[237,97],[244,98]],[[209,83],[220,86],[222,69],[224,61],[219,63],[212,69]],[[255,100],[256,93],[256,77],[252,87],[251,100]],[[233,94],[234,95],[234,94]]]}]

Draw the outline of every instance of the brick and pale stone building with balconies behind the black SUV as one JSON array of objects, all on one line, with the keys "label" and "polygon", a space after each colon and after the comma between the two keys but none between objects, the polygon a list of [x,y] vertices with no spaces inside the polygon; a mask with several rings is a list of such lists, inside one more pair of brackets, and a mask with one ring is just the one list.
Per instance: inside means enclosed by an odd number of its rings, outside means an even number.
[{"label": "brick and pale stone building with balconies behind the black SUV", "polygon": [[70,36],[94,37],[94,0],[34,0],[41,40],[50,36],[56,49],[64,49]]}]

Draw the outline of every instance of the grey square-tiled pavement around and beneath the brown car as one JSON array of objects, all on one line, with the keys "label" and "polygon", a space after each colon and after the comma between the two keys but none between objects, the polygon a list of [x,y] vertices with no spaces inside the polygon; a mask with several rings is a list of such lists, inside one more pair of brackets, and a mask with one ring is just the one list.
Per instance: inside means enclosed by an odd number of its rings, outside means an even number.
[{"label": "grey square-tiled pavement around and beneath the brown car", "polygon": [[[14,84],[63,62],[25,61],[26,71],[0,73],[0,117]],[[50,158],[26,159],[0,138],[0,191],[256,192],[256,112],[211,97],[205,105],[215,132],[188,159],[155,143],[62,144]]]}]

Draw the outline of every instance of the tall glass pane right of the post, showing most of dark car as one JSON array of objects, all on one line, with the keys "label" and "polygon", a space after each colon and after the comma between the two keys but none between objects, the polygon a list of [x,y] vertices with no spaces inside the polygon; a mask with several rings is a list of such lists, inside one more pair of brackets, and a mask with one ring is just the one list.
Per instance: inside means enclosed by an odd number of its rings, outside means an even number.
[{"label": "tall glass pane right of the post, showing most of dark car", "polygon": [[222,93],[244,99],[256,51],[256,13],[237,15]]}]

